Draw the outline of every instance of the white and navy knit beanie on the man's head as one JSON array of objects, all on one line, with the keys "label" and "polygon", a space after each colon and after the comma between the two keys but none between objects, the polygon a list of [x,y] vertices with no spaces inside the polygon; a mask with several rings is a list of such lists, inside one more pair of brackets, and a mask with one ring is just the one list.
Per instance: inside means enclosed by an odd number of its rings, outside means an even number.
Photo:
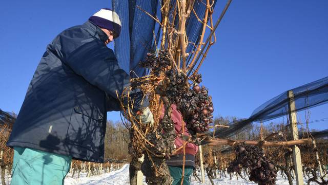
[{"label": "white and navy knit beanie on the man's head", "polygon": [[121,32],[121,22],[117,13],[109,8],[103,8],[96,12],[89,18],[89,21],[101,28],[112,30],[115,33],[115,38]]}]

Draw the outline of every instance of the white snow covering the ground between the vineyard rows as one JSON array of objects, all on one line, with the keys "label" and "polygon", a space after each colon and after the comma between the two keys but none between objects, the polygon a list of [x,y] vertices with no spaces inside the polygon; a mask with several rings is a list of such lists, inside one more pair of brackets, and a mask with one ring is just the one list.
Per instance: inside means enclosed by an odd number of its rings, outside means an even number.
[{"label": "white snow covering the ground between the vineyard rows", "polygon": [[[80,178],[77,178],[77,175],[74,175],[74,178],[72,178],[72,174],[68,174],[65,178],[65,185],[102,185],[102,184],[112,184],[112,185],[124,185],[124,184],[130,184],[129,183],[129,164],[125,164],[121,169],[117,171],[113,171],[110,173],[98,175],[98,176],[91,176],[86,177],[87,173],[80,173]],[[228,177],[228,176],[227,176]],[[248,177],[247,177],[248,178]],[[10,178],[6,178],[7,183],[10,184]],[[241,184],[241,185],[251,185],[256,184],[254,182],[250,182],[241,178],[238,178],[236,180],[236,176],[230,180],[230,178],[222,178],[222,179],[213,179],[214,184],[217,185],[227,185],[227,184]],[[304,183],[306,183],[306,179],[304,179]],[[1,182],[0,182],[1,184]],[[144,184],[145,178],[144,178]],[[191,184],[192,185],[201,185],[199,181],[196,181],[193,177],[191,177]],[[206,176],[206,182],[204,184],[211,184],[209,178]],[[277,185],[289,185],[288,180],[281,177],[280,172],[278,173],[278,177],[276,180]],[[293,184],[296,184],[296,181],[294,181]],[[311,183],[312,185],[316,183]]]}]

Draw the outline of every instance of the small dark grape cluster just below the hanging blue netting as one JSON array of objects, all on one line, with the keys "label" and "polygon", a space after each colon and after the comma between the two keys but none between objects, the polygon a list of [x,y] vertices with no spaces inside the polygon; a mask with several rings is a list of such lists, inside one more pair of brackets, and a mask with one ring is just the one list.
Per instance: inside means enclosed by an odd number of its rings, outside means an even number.
[{"label": "small dark grape cluster just below the hanging blue netting", "polygon": [[168,50],[159,50],[158,52],[149,52],[145,61],[140,62],[141,67],[152,70],[153,75],[159,76],[162,71],[171,65],[170,53]]}]

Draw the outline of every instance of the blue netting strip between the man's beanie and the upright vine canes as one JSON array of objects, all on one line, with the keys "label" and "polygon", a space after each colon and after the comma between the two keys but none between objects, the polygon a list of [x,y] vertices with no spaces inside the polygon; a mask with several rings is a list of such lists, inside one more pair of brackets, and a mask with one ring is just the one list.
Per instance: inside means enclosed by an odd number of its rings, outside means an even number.
[{"label": "blue netting strip between the man's beanie and the upright vine canes", "polygon": [[140,77],[146,74],[146,69],[140,68],[138,63],[144,60],[152,48],[155,21],[137,6],[156,15],[157,1],[112,0],[112,8],[122,25],[120,36],[114,41],[116,58],[122,69],[128,73],[133,70]]}]

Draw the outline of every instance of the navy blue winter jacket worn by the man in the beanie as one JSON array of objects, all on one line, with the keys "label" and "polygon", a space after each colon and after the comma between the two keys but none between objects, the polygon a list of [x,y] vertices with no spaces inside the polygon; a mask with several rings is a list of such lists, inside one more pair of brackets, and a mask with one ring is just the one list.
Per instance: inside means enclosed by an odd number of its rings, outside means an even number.
[{"label": "navy blue winter jacket worn by the man in the beanie", "polygon": [[[8,146],[104,161],[106,113],[120,110],[116,90],[121,94],[130,85],[107,38],[90,21],[56,36],[30,82]],[[148,105],[138,104],[139,90],[131,96],[137,109]]]}]

